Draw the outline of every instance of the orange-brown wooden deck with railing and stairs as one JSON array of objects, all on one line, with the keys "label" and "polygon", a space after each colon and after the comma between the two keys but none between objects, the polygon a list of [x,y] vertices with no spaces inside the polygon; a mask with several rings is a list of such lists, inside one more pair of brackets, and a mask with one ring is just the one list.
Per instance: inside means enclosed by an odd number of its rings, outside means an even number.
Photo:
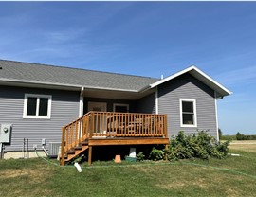
[{"label": "orange-brown wooden deck with railing and stairs", "polygon": [[64,126],[61,165],[92,147],[107,145],[168,145],[167,116],[153,114],[89,112]]}]

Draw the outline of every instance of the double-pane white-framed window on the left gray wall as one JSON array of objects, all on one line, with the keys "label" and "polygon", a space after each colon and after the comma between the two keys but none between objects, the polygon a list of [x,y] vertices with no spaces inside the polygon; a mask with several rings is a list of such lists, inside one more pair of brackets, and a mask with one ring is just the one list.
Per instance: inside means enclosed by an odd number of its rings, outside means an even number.
[{"label": "double-pane white-framed window on the left gray wall", "polygon": [[23,118],[50,118],[51,96],[25,94]]}]

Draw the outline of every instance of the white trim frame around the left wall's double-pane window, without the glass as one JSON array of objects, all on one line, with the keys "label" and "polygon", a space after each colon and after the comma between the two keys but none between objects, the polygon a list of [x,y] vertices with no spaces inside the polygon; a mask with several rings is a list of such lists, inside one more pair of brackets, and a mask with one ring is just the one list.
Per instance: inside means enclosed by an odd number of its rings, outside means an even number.
[{"label": "white trim frame around the left wall's double-pane window, without the glass", "polygon": [[[36,115],[35,116],[27,116],[27,98],[46,98],[48,99],[48,109],[47,116],[39,116],[39,102],[36,102]],[[51,95],[38,95],[38,94],[25,94],[24,96],[24,108],[23,108],[23,118],[31,118],[31,119],[50,119],[51,115]]]}]

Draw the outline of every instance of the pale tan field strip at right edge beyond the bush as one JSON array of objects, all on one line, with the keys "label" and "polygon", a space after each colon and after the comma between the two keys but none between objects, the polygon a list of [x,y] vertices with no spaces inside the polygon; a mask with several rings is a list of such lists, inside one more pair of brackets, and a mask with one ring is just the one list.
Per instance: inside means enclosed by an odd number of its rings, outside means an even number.
[{"label": "pale tan field strip at right edge beyond the bush", "polygon": [[229,150],[256,152],[256,140],[233,140],[229,145]]}]

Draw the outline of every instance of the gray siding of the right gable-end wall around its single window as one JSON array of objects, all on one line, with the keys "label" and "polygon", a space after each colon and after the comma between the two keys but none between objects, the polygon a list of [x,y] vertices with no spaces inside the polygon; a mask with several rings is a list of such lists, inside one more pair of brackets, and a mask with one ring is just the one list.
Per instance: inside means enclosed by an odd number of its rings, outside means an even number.
[{"label": "gray siding of the right gable-end wall around its single window", "polygon": [[[190,74],[184,74],[158,87],[159,114],[168,116],[169,137],[184,131],[186,134],[197,130],[209,130],[217,137],[214,91]],[[195,99],[197,127],[180,127],[179,99]]]}]

